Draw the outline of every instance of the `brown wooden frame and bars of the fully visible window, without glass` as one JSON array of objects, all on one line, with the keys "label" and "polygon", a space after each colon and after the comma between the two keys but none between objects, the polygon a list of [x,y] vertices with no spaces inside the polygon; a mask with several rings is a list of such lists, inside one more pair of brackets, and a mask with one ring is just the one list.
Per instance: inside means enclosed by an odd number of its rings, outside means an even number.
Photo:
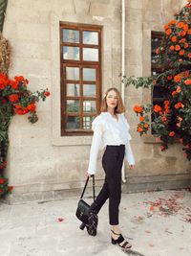
[{"label": "brown wooden frame and bars of the fully visible window, without glass", "polygon": [[[79,43],[63,42],[63,29],[77,30],[79,31]],[[82,33],[83,31],[97,32],[98,44],[83,44]],[[60,96],[61,96],[61,136],[68,135],[90,135],[93,133],[92,129],[83,129],[83,117],[96,117],[99,113],[101,103],[101,33],[102,26],[96,25],[84,25],[84,24],[67,24],[60,22]],[[63,59],[63,46],[77,46],[79,47],[79,60]],[[98,61],[89,61],[82,59],[83,48],[98,49]],[[79,68],[79,81],[66,80],[66,67],[78,67]],[[82,81],[82,68],[95,68],[96,69],[96,81]],[[78,83],[79,84],[79,97],[67,96],[66,83]],[[96,83],[96,97],[83,96],[83,84],[95,84]],[[79,113],[67,112],[66,102],[67,100],[79,100]],[[96,112],[83,113],[83,102],[96,101]],[[64,103],[64,104],[63,104]],[[68,116],[78,116],[80,119],[79,129],[67,129],[66,120]]]}]

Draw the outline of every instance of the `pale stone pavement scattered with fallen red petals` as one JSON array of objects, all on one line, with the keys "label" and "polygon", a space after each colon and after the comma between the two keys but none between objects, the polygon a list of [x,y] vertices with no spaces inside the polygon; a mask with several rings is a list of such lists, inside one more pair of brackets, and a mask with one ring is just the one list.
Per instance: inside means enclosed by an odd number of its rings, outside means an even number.
[{"label": "pale stone pavement scattered with fallen red petals", "polygon": [[[123,194],[120,222],[133,244],[110,242],[108,202],[96,237],[78,228],[78,198],[22,205],[0,204],[0,256],[190,256],[191,193],[186,190]],[[91,202],[90,198],[87,198]]]}]

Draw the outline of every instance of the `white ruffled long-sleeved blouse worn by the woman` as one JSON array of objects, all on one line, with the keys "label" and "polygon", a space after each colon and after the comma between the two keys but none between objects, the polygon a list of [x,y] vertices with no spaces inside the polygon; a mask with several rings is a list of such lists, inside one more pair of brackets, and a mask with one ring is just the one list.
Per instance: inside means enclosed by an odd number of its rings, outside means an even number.
[{"label": "white ruffled long-sleeved blouse worn by the woman", "polygon": [[125,145],[125,158],[130,165],[135,165],[134,154],[129,142],[131,140],[129,124],[123,113],[117,114],[117,117],[117,119],[114,118],[109,112],[101,112],[92,123],[94,136],[87,171],[90,175],[96,174],[98,151],[107,145]]}]

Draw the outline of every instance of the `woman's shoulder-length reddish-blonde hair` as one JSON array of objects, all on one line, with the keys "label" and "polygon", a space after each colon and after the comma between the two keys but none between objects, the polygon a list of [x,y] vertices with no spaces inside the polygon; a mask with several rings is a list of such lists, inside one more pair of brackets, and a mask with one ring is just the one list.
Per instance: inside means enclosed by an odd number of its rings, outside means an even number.
[{"label": "woman's shoulder-length reddish-blonde hair", "polygon": [[120,93],[119,93],[119,91],[117,90],[116,87],[109,88],[106,91],[106,93],[103,97],[103,100],[101,102],[100,112],[107,112],[107,110],[108,110],[108,106],[107,106],[107,103],[106,103],[106,97],[107,97],[107,95],[110,91],[115,91],[117,93],[117,106],[114,109],[114,113],[115,114],[124,113],[125,112],[125,106],[122,103],[122,98],[121,98]]}]

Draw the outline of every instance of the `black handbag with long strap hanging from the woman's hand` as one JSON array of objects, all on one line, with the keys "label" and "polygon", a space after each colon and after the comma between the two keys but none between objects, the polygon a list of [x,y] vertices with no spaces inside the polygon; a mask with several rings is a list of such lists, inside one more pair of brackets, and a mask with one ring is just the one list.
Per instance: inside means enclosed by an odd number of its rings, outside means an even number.
[{"label": "black handbag with long strap hanging from the woman's hand", "polygon": [[[86,201],[84,201],[83,195],[85,193],[87,184],[89,181],[89,176],[87,177],[83,192],[81,194],[81,197],[77,203],[77,209],[75,212],[75,216],[79,221],[82,221],[81,225],[79,226],[80,229],[87,228],[87,232],[91,236],[96,236],[96,227],[98,223],[98,217],[94,210],[92,210],[91,205],[88,204]],[[95,202],[95,175],[93,175],[93,197]]]}]

